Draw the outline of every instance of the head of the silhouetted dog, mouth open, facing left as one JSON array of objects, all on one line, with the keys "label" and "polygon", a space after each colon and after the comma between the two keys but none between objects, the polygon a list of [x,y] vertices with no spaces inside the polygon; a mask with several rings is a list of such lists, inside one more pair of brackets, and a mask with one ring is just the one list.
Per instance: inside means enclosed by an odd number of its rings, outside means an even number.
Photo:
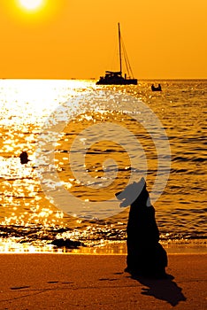
[{"label": "head of the silhouetted dog, mouth open, facing left", "polygon": [[143,177],[139,182],[127,185],[125,190],[119,191],[115,196],[121,200],[120,207],[126,207],[135,202],[142,205],[150,205],[149,192]]}]

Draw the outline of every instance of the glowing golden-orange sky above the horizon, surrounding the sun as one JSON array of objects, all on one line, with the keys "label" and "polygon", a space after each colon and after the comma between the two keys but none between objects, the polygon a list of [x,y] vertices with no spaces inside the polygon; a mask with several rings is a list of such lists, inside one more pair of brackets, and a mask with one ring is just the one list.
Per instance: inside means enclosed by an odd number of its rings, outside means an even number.
[{"label": "glowing golden-orange sky above the horizon, surrounding the sun", "polygon": [[[24,0],[31,1],[31,0]],[[137,79],[207,78],[206,0],[0,0],[0,77],[88,79],[117,69],[117,23]]]}]

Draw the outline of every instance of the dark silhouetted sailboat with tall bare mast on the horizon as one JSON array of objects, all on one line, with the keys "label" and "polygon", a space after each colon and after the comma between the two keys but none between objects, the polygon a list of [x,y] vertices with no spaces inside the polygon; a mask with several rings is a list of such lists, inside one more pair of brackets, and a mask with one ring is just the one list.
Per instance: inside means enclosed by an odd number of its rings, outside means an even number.
[{"label": "dark silhouetted sailboat with tall bare mast on the horizon", "polygon": [[[101,76],[99,81],[96,82],[96,85],[137,85],[137,79],[134,79],[131,66],[129,64],[129,60],[127,58],[126,49],[121,39],[120,34],[120,25],[118,23],[118,35],[119,35],[119,71],[106,71],[105,76]],[[122,50],[124,53],[126,70],[128,77],[126,74],[122,75]],[[130,77],[132,75],[132,78]]]}]

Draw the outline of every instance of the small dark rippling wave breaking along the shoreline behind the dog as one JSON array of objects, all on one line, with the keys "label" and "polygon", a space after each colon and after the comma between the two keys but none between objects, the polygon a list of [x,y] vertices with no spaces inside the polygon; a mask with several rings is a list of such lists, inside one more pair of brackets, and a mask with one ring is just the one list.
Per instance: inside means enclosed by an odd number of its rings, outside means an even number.
[{"label": "small dark rippling wave breaking along the shoreline behind the dog", "polygon": [[[185,233],[161,232],[161,242],[186,240],[206,240],[204,231],[192,231]],[[80,246],[96,246],[107,241],[126,241],[126,225],[122,229],[111,228],[103,223],[103,226],[90,225],[85,229],[69,229],[64,227],[45,228],[41,225],[27,227],[11,225],[0,226],[0,244],[16,243],[34,246],[66,247],[68,249]]]}]

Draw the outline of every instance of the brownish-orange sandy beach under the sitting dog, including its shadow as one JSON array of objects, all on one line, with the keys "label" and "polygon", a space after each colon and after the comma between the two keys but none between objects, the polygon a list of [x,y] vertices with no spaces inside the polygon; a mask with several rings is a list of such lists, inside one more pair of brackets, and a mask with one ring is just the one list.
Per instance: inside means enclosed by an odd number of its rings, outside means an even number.
[{"label": "brownish-orange sandy beach under the sitting dog, including its shadow", "polygon": [[133,279],[125,255],[0,254],[0,309],[206,309],[206,254],[169,254],[166,280]]}]

